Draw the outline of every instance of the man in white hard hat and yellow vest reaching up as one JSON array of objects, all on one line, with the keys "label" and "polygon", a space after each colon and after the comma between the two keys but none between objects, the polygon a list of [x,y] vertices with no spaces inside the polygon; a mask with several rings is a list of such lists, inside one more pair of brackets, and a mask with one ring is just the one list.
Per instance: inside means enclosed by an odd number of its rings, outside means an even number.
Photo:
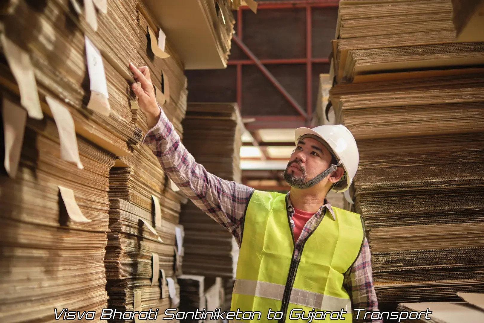
[{"label": "man in white hard hat and yellow vest reaching up", "polygon": [[[151,129],[143,141],[171,180],[240,246],[231,310],[260,312],[263,322],[382,322],[370,315],[363,320],[364,312],[378,311],[378,302],[362,218],[326,200],[331,189],[348,189],[358,167],[348,129],[296,129],[284,173],[290,192],[257,191],[198,164],[158,106],[148,68],[130,69]],[[359,320],[354,309],[364,309]]]}]

